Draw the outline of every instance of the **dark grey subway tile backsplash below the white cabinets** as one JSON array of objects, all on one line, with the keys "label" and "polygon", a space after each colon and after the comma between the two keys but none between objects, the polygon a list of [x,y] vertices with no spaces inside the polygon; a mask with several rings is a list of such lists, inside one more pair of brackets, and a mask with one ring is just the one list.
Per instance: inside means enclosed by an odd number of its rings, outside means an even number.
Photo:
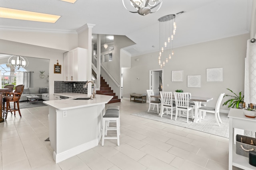
[{"label": "dark grey subway tile backsplash below the white cabinets", "polygon": [[[75,84],[75,86],[74,86]],[[54,93],[82,93],[87,94],[87,88],[84,88],[86,82],[64,82],[54,81]]]}]

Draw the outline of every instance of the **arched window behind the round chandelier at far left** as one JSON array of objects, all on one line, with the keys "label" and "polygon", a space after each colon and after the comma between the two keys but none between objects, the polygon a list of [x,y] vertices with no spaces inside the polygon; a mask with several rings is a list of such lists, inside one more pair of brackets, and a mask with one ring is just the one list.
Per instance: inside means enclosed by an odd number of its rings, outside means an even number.
[{"label": "arched window behind the round chandelier at far left", "polygon": [[26,69],[20,68],[15,70],[11,64],[0,64],[0,73],[1,73],[1,86],[4,88],[7,84],[14,84],[16,86],[16,76],[17,72],[25,72]]}]

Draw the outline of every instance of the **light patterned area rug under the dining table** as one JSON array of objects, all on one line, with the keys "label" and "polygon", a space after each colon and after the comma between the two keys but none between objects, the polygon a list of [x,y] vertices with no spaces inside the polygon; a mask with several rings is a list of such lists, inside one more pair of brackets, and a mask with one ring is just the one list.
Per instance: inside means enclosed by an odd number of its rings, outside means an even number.
[{"label": "light patterned area rug under the dining table", "polygon": [[222,123],[220,123],[220,126],[218,126],[218,124],[215,121],[214,113],[206,113],[206,117],[202,119],[201,122],[198,122],[198,123],[192,122],[193,121],[192,119],[188,119],[188,123],[187,123],[186,117],[177,117],[176,121],[175,121],[175,116],[172,116],[172,119],[171,119],[171,115],[166,115],[166,114],[160,117],[157,114],[157,111],[149,111],[149,112],[144,111],[140,113],[133,113],[132,115],[228,138],[229,120],[228,120],[228,114],[226,113],[220,113],[220,119],[222,120]]}]

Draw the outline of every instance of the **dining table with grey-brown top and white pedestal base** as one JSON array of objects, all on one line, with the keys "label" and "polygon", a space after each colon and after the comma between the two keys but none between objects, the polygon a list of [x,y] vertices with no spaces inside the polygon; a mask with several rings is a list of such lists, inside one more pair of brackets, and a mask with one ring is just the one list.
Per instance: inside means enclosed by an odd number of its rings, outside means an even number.
[{"label": "dining table with grey-brown top and white pedestal base", "polygon": [[[154,95],[154,96],[151,96],[151,97],[161,99],[160,94],[159,95]],[[174,98],[174,94],[172,95],[172,97]],[[191,96],[190,97],[189,101],[192,101],[195,104],[195,116],[192,115],[192,118],[194,118],[193,122],[197,123],[200,120],[199,116],[201,116],[201,115],[199,115],[199,107],[201,106],[202,102],[209,102],[211,100],[213,100],[212,97],[200,97],[200,96]],[[160,113],[161,113],[161,110],[160,110]]]}]

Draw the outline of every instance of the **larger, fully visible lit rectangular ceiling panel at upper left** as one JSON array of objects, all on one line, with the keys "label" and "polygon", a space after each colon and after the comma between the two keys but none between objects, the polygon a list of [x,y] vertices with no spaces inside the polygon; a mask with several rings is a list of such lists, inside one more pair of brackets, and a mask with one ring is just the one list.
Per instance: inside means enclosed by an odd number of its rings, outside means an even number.
[{"label": "larger, fully visible lit rectangular ceiling panel at upper left", "polygon": [[55,23],[60,16],[0,7],[0,18]]}]

